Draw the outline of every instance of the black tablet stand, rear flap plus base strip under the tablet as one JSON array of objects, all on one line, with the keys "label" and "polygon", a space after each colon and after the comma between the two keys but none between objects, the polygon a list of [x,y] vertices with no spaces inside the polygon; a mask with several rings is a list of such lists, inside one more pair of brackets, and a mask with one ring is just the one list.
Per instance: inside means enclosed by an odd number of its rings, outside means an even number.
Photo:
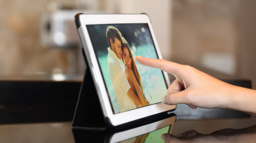
[{"label": "black tablet stand, rear flap plus base strip under the tablet", "polygon": [[[85,56],[84,50],[82,48],[82,54],[84,61],[88,66],[88,61]],[[163,112],[156,115],[151,115],[136,121],[129,122],[124,125],[119,125],[113,127],[112,125],[107,124],[104,118],[99,98],[92,80],[92,75],[90,69],[87,67],[83,82],[80,88],[78,101],[75,108],[74,118],[72,127],[74,129],[85,129],[85,130],[106,130],[107,127],[110,127],[115,130],[122,130],[124,128],[132,128],[139,125],[146,125],[153,123],[171,116],[175,116],[174,113]]]}]

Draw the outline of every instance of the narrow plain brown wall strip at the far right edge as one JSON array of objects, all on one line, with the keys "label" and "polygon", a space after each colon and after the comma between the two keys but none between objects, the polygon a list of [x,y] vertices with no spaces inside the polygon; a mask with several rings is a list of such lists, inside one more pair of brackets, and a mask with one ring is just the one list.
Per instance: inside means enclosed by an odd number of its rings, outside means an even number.
[{"label": "narrow plain brown wall strip at the far right edge", "polygon": [[239,76],[251,79],[256,89],[256,1],[240,1],[239,13]]}]

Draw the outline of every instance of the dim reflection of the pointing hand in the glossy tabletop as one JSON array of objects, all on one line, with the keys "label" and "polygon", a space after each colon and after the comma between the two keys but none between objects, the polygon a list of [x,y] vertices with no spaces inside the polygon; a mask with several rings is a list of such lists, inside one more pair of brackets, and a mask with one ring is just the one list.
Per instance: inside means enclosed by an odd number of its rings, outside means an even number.
[{"label": "dim reflection of the pointing hand in the glossy tabletop", "polygon": [[256,125],[244,129],[222,129],[205,135],[195,130],[177,136],[166,133],[161,138],[165,143],[255,143]]}]

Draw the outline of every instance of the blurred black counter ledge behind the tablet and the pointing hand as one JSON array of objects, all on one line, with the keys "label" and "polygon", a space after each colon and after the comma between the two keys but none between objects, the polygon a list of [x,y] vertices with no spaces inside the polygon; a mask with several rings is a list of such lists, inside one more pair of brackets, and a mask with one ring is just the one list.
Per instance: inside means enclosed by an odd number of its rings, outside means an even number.
[{"label": "blurred black counter ledge behind the tablet and the pointing hand", "polygon": [[[83,75],[0,76],[0,124],[72,121],[82,80]],[[223,81],[251,88],[250,80]],[[250,117],[223,109],[193,110],[185,104],[177,105],[175,113],[178,119]]]}]

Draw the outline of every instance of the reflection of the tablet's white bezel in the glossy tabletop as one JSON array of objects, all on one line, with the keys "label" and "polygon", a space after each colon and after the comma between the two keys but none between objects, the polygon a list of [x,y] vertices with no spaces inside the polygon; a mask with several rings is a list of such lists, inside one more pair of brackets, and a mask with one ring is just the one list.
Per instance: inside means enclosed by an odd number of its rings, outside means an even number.
[{"label": "reflection of the tablet's white bezel in the glossy tabletop", "polygon": [[148,125],[143,125],[143,126],[140,126],[140,127],[136,127],[136,128],[133,128],[133,129],[129,129],[129,130],[125,130],[125,131],[122,131],[122,132],[115,133],[111,137],[109,143],[121,142],[121,141],[130,139],[130,138],[133,138],[133,137],[137,137],[137,136],[146,134],[148,132],[158,130],[158,129],[166,127],[168,125],[171,125],[171,128],[169,129],[168,133],[172,133],[173,125],[174,125],[175,120],[176,120],[176,116],[173,116],[173,117],[170,117],[170,118],[167,118],[167,119],[164,119],[164,120],[161,120],[161,121],[157,121],[157,122],[154,122],[154,123],[151,123],[151,124],[148,124]]}]

